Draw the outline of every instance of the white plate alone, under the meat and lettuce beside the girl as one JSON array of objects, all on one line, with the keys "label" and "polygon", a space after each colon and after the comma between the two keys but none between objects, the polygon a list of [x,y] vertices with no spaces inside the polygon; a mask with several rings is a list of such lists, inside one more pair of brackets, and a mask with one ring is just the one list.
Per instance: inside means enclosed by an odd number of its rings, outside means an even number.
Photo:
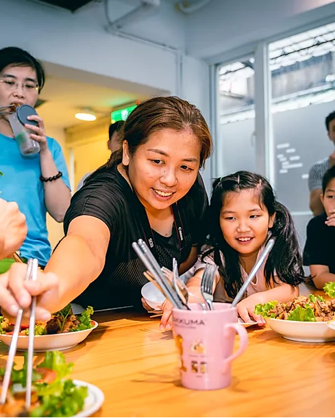
[{"label": "white plate alone, under the meat and lettuce beside the girl", "polygon": [[335,329],[327,322],[287,321],[286,319],[265,318],[266,324],[286,339],[306,343],[335,341]]}]

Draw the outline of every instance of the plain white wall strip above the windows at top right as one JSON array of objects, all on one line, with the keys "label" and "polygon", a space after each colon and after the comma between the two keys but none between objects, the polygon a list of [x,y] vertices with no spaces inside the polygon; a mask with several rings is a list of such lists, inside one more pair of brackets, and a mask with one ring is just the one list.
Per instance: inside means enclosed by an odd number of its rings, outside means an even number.
[{"label": "plain white wall strip above the windows at top right", "polygon": [[334,14],[334,0],[212,0],[188,16],[186,52],[220,62],[227,51]]}]

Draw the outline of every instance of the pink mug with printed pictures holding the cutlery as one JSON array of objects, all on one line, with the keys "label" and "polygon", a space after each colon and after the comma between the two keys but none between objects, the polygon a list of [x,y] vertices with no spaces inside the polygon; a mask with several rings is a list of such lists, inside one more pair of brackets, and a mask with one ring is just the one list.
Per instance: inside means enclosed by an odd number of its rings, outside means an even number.
[{"label": "pink mug with printed pictures holding the cutlery", "polygon": [[[203,311],[189,304],[190,311],[173,309],[173,337],[180,355],[182,385],[188,389],[222,389],[232,381],[232,361],[248,345],[247,331],[237,324],[237,309],[214,302]],[[240,347],[233,354],[236,333]]]}]

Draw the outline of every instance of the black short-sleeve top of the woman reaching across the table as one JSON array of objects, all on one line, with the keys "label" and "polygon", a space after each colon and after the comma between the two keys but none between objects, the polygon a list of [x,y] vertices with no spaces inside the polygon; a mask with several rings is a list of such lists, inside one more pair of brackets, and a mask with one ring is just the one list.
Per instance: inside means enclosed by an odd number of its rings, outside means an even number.
[{"label": "black short-sleeve top of the woman reaching across the table", "polygon": [[94,309],[140,306],[140,289],[147,283],[142,273],[146,269],[132,248],[132,242],[139,238],[148,241],[147,235],[151,233],[158,263],[172,270],[173,257],[180,264],[188,258],[192,246],[201,244],[207,207],[208,196],[198,174],[188,194],[174,206],[172,235],[163,237],[151,230],[144,207],[116,164],[99,168],[75,193],[64,218],[65,234],[70,222],[80,215],[94,216],[110,230],[103,271],[74,302]]}]

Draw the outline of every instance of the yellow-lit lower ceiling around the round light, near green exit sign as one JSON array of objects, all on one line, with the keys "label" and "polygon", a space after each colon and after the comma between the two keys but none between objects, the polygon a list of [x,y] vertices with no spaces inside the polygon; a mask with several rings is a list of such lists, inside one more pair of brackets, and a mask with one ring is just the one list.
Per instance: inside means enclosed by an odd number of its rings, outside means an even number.
[{"label": "yellow-lit lower ceiling around the round light, near green exit sign", "polygon": [[121,79],[112,79],[82,70],[44,63],[47,78],[38,107],[38,114],[47,129],[65,129],[83,123],[75,118],[82,109],[95,111],[97,118],[108,116],[114,109],[143,101],[164,91],[139,86]]}]

